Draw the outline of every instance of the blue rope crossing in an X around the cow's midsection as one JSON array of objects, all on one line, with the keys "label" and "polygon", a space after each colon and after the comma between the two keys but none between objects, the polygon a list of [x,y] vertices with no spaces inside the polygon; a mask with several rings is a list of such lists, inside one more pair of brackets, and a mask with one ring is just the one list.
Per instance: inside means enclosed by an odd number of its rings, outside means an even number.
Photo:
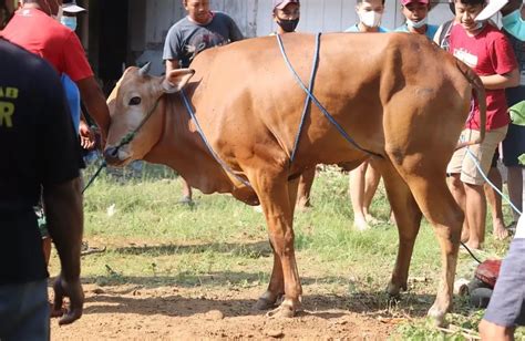
[{"label": "blue rope crossing in an X around the cow's midsection", "polygon": [[[276,38],[277,38],[277,42],[279,44],[279,50],[280,50],[280,53],[282,54],[282,58],[285,59],[285,62],[286,62],[286,65],[288,66],[288,69],[290,70],[290,72],[294,74],[297,83],[299,84],[299,86],[307,93],[308,97],[313,102],[316,103],[317,107],[319,107],[319,110],[321,111],[321,113],[328,118],[328,121],[330,121],[330,123],[339,131],[339,133],[341,134],[342,137],[344,137],[344,140],[347,140],[351,145],[353,145],[356,148],[358,148],[359,151],[361,152],[364,152],[367,154],[370,154],[370,155],[373,155],[373,156],[378,156],[378,157],[381,157],[383,158],[383,156],[381,154],[377,154],[377,153],[373,153],[371,151],[368,151],[368,149],[364,149],[362,148],[359,144],[357,144],[356,141],[353,141],[353,138],[351,138],[348,133],[344,131],[344,128],[336,121],[336,118],[333,118],[332,115],[330,115],[330,113],[326,110],[325,106],[322,106],[322,104],[317,100],[317,97],[313,95],[313,93],[308,90],[305,84],[302,83],[301,79],[299,78],[299,75],[297,74],[296,70],[294,69],[294,66],[291,65],[290,63],[290,60],[288,59],[288,55],[286,54],[286,51],[285,51],[285,45],[282,43],[282,39],[280,38],[279,34],[276,34]],[[317,33],[316,35],[316,53],[315,53],[315,70],[313,70],[313,73],[317,72],[317,68],[318,68],[318,59],[319,59],[319,50],[320,50],[320,38],[321,38],[321,33]],[[301,121],[301,127],[302,127],[302,121]],[[300,134],[300,132],[298,133]],[[297,145],[296,145],[297,147]],[[295,151],[292,152],[292,155],[295,155]]]}]

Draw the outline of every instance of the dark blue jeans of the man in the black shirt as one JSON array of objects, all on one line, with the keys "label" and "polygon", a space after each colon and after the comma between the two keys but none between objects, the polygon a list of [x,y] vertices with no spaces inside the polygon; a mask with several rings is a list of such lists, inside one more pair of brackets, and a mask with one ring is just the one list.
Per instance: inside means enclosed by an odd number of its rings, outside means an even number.
[{"label": "dark blue jeans of the man in the black shirt", "polygon": [[0,286],[0,340],[49,340],[48,280]]}]

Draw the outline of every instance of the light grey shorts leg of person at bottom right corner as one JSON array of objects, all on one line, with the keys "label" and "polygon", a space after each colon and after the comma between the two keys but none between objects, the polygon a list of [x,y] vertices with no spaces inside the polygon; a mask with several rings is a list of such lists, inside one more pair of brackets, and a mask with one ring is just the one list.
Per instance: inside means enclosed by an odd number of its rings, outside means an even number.
[{"label": "light grey shorts leg of person at bottom right corner", "polygon": [[514,239],[484,319],[502,327],[525,326],[525,238]]}]

